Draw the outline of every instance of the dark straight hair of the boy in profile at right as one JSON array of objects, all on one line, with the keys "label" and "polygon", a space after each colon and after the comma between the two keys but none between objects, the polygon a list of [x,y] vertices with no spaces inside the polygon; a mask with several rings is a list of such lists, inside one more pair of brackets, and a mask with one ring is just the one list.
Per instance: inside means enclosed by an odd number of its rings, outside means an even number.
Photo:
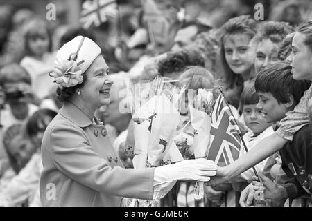
[{"label": "dark straight hair of the boy in profile at right", "polygon": [[286,61],[277,61],[263,68],[256,77],[254,87],[257,93],[271,93],[278,103],[289,102],[289,95],[293,95],[294,104],[298,104],[304,91],[308,90],[311,81],[293,79],[291,66]]}]

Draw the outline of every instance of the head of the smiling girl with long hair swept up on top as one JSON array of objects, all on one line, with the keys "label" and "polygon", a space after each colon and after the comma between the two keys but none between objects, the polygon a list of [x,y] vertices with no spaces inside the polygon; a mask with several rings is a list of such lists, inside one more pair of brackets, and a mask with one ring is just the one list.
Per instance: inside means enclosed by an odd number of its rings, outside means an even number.
[{"label": "head of the smiling girl with long hair swept up on top", "polygon": [[250,40],[257,22],[248,15],[229,19],[220,29],[220,64],[229,103],[238,108],[244,81],[254,77],[254,48]]}]

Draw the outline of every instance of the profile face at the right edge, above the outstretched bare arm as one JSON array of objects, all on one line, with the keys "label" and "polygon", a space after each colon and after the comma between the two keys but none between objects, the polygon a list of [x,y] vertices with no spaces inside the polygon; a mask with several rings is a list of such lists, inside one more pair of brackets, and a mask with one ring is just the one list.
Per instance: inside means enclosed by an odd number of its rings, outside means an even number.
[{"label": "profile face at the right edge, above the outstretched bare arm", "polygon": [[296,32],[293,37],[291,55],[287,57],[287,61],[291,63],[291,73],[296,80],[312,80],[312,52],[304,44],[306,36],[300,32]]}]

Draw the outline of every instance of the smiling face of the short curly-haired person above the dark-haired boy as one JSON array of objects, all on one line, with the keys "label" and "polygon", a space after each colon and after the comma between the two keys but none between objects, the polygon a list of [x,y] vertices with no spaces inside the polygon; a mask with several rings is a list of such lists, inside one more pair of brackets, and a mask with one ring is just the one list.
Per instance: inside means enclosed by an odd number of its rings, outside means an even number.
[{"label": "smiling face of the short curly-haired person above the dark-haired boy", "polygon": [[258,74],[268,64],[279,61],[279,44],[273,43],[270,39],[263,39],[257,46],[256,58],[254,59],[254,70]]}]

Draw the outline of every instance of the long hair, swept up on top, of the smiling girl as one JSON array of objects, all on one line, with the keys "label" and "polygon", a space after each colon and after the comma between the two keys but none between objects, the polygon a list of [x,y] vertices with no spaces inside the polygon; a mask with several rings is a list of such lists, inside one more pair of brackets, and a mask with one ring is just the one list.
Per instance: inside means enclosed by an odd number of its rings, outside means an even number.
[{"label": "long hair, swept up on top, of the smiling girl", "polygon": [[247,35],[250,40],[256,35],[257,21],[252,19],[250,15],[241,15],[239,17],[234,17],[229,19],[220,28],[220,64],[223,69],[223,77],[225,77],[225,83],[229,88],[234,88],[234,86],[243,86],[243,77],[233,72],[227,61],[225,59],[225,48],[224,41],[225,37],[229,35]]}]

